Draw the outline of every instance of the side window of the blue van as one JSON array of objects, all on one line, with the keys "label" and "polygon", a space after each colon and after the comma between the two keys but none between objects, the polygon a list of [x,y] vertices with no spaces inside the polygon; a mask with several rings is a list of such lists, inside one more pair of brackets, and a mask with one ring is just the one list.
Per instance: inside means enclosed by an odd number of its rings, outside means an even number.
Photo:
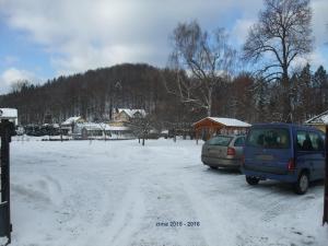
[{"label": "side window of the blue van", "polygon": [[297,131],[296,149],[298,151],[324,151],[324,139],[317,132]]}]

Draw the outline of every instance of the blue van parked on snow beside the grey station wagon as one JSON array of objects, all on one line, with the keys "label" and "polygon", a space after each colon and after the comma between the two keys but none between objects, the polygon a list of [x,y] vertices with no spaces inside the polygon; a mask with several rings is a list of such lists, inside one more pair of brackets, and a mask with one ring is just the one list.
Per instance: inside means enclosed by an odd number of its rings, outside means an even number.
[{"label": "blue van parked on snow beside the grey station wagon", "polygon": [[309,181],[325,176],[325,134],[292,124],[254,125],[246,138],[242,172],[249,185],[276,179],[307,191]]}]

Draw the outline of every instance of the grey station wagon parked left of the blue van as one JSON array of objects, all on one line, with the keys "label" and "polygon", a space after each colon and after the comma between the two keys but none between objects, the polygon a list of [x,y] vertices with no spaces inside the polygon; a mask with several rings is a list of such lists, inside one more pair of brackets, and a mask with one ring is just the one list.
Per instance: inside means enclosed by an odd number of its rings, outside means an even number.
[{"label": "grey station wagon parked left of the blue van", "polygon": [[215,136],[201,150],[201,161],[211,168],[239,168],[242,164],[245,136]]}]

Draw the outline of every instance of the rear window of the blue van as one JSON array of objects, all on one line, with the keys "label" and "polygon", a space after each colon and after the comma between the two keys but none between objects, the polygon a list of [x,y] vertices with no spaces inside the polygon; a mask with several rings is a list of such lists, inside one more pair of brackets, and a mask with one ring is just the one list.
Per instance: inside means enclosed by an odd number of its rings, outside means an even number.
[{"label": "rear window of the blue van", "polygon": [[283,128],[254,128],[249,131],[246,145],[266,149],[289,149],[290,133]]}]

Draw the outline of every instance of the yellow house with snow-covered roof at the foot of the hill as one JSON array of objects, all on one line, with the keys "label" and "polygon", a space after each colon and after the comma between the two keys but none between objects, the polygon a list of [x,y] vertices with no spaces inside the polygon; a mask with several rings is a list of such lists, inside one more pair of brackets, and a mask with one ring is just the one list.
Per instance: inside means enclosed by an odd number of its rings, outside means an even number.
[{"label": "yellow house with snow-covered roof at the foot of the hill", "polygon": [[110,126],[124,127],[129,124],[132,118],[145,117],[144,109],[115,108],[113,110]]}]

